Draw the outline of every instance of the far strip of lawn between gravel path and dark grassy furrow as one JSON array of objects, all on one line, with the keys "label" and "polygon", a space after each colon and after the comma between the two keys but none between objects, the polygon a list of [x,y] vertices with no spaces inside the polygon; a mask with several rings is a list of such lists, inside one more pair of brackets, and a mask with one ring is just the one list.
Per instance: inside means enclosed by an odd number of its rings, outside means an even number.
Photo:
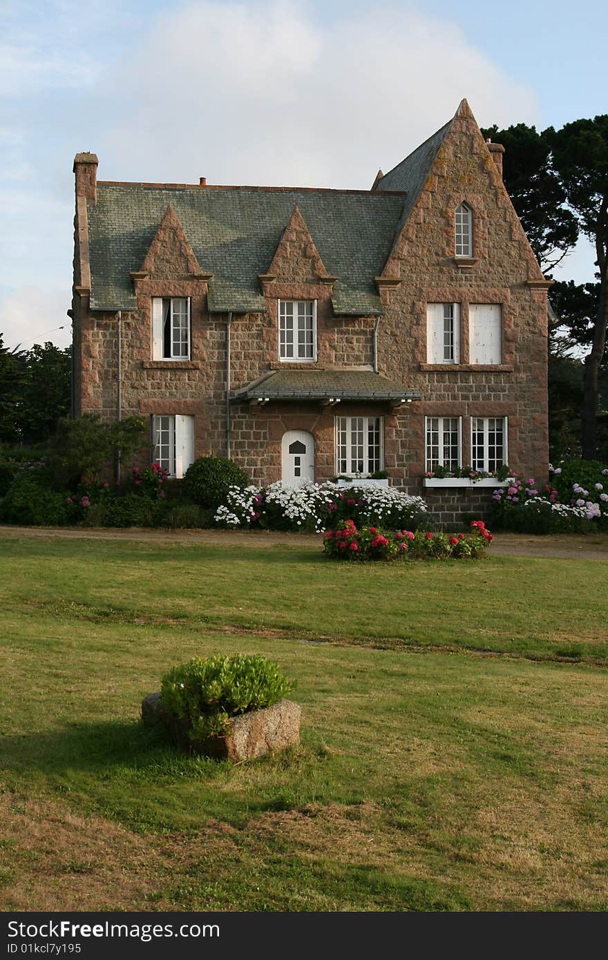
[{"label": "far strip of lawn between gravel path and dark grassy furrow", "polygon": [[11,571],[11,587],[0,599],[7,616],[143,617],[351,643],[608,659],[604,567],[597,562],[490,555],[478,563],[337,564],[311,547],[257,549],[255,540],[5,544],[0,564]]}]

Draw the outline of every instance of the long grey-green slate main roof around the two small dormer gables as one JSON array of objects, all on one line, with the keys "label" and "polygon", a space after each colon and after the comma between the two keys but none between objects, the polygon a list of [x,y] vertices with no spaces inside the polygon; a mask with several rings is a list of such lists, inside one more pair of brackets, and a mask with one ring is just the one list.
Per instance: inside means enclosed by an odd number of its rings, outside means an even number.
[{"label": "long grey-green slate main roof around the two small dormer gables", "polygon": [[87,202],[93,310],[134,310],[139,270],[169,203],[201,270],[212,274],[209,310],[265,309],[264,274],[299,206],[328,273],[337,314],[379,315],[378,276],[401,222],[402,193],[302,188],[97,184]]}]

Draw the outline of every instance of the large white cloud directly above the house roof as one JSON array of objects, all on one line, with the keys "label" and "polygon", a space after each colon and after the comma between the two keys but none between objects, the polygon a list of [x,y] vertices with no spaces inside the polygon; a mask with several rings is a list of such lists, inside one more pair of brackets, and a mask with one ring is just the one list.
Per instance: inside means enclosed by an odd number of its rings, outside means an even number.
[{"label": "large white cloud directly above the house roof", "polygon": [[191,3],[109,84],[125,110],[97,145],[108,179],[367,188],[462,97],[482,125],[537,115],[459,27],[382,2],[330,23],[281,0]]}]

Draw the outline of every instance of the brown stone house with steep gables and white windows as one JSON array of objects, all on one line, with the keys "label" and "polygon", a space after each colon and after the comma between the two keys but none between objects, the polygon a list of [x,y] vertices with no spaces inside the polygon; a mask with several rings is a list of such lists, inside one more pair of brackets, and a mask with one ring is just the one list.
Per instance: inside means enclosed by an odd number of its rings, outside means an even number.
[{"label": "brown stone house with steep gables and white windows", "polygon": [[174,476],[385,470],[448,520],[487,484],[426,472],[545,481],[549,283],[502,153],[463,100],[371,190],[109,182],[78,154],[76,415],[149,418]]}]

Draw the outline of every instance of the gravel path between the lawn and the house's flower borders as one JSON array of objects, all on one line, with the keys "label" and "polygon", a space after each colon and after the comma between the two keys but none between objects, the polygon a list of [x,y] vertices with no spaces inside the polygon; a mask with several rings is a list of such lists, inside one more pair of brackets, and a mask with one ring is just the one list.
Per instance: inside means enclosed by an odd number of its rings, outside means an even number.
[{"label": "gravel path between the lawn and the house's flower borders", "polygon": [[[0,540],[14,538],[53,538],[58,540],[136,540],[142,543],[238,543],[264,549],[278,544],[289,546],[319,545],[314,534],[288,534],[277,531],[255,530],[147,530],[133,527],[129,530],[86,530],[66,527],[10,527],[0,526]],[[497,534],[491,553],[500,556],[552,557],[571,560],[608,561],[608,534],[588,537],[561,535],[531,537],[527,534]]]}]

